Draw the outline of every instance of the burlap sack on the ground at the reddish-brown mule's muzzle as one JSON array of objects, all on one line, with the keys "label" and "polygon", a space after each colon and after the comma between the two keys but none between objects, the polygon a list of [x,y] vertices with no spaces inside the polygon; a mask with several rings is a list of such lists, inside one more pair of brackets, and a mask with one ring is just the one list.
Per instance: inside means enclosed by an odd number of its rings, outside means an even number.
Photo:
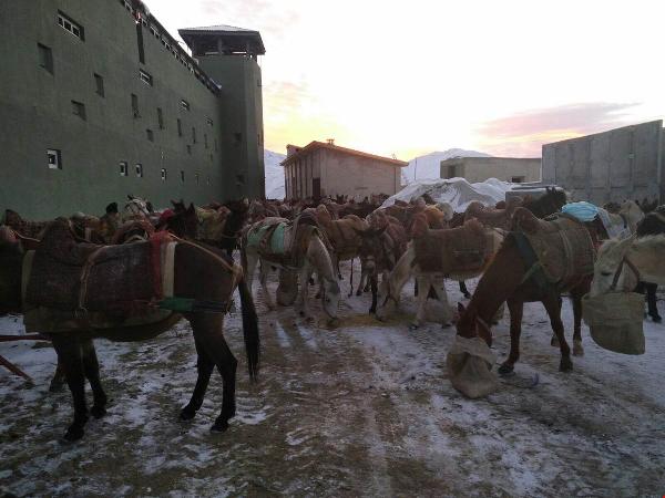
[{"label": "burlap sack on the ground at the reddish-brown mule's muzzle", "polygon": [[499,378],[492,371],[495,357],[480,338],[454,336],[446,360],[452,386],[472,400],[497,391]]}]

